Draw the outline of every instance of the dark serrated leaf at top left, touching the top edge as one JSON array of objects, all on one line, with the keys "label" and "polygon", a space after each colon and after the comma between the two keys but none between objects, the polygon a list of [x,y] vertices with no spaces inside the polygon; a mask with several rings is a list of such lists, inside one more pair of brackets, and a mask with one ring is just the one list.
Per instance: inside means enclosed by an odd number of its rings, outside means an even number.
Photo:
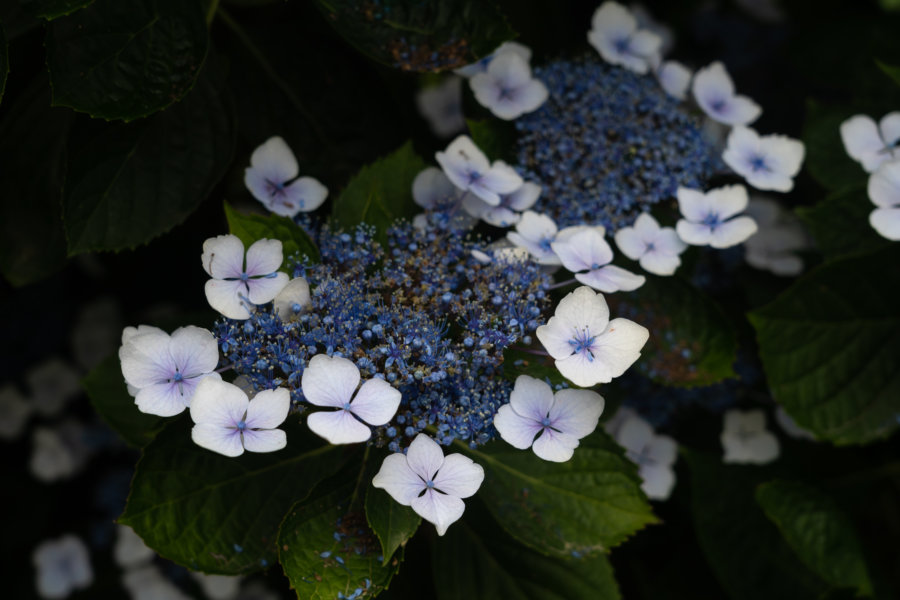
[{"label": "dark serrated leaf at top left, touching the top edge", "polygon": [[47,30],[53,105],[145,117],[190,91],[208,45],[198,0],[97,0]]}]

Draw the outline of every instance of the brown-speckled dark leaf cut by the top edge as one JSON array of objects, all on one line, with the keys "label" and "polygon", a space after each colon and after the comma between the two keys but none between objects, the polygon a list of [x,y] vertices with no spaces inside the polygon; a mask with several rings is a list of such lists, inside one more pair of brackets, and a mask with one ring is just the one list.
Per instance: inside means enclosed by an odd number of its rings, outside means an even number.
[{"label": "brown-speckled dark leaf cut by the top edge", "polygon": [[316,0],[325,19],[357,50],[404,71],[473,63],[515,37],[495,2],[484,0]]}]

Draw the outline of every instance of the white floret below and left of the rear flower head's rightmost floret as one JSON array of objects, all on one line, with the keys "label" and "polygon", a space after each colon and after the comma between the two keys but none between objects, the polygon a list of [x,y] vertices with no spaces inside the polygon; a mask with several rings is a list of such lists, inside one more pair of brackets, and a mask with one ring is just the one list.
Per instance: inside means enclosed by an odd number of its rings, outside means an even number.
[{"label": "white floret below and left of the rear flower head's rightmost floret", "polygon": [[730,248],[756,233],[756,221],[736,216],[747,208],[747,188],[742,185],[726,185],[705,194],[680,187],[677,195],[684,218],[675,224],[675,230],[692,246]]}]

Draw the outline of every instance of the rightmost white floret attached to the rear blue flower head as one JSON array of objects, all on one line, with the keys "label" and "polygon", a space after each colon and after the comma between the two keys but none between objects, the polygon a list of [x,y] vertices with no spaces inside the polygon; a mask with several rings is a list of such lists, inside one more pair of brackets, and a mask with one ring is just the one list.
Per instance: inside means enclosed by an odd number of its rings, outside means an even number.
[{"label": "rightmost white floret attached to the rear blue flower head", "polygon": [[722,159],[759,190],[789,192],[800,172],[805,150],[799,140],[784,135],[760,136],[749,127],[731,130]]}]

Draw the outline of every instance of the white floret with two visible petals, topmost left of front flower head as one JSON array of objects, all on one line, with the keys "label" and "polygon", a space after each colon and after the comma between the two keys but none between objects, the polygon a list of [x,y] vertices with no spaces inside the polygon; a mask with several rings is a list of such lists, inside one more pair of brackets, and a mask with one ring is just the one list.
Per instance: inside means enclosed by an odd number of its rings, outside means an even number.
[{"label": "white floret with two visible petals, topmost left of front flower head", "polygon": [[328,188],[312,177],[300,177],[297,159],[280,137],[271,137],[253,151],[244,171],[244,185],[276,215],[293,217],[319,208]]}]

